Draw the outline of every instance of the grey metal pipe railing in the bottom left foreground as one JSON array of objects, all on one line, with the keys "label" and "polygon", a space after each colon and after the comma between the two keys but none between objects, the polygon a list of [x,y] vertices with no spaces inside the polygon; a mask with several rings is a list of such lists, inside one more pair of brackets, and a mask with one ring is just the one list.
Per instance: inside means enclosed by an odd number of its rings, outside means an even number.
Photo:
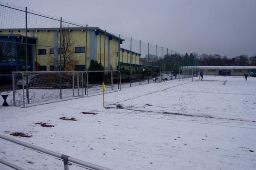
[{"label": "grey metal pipe railing in the bottom left foreground", "polygon": [[[92,164],[92,163],[89,163],[89,162],[86,162],[86,161],[76,159],[76,158],[61,154],[61,153],[54,152],[52,150],[47,150],[47,149],[44,149],[42,147],[38,147],[38,146],[29,144],[29,143],[26,143],[26,142],[22,142],[22,141],[19,141],[17,139],[12,139],[12,138],[7,137],[7,136],[0,135],[0,138],[4,139],[4,140],[7,140],[9,142],[13,142],[15,144],[19,144],[19,145],[24,146],[24,147],[28,147],[32,150],[37,150],[39,152],[46,153],[50,156],[54,156],[56,158],[62,159],[64,161],[64,170],[69,170],[69,165],[68,165],[69,162],[73,162],[74,164],[78,164],[78,165],[81,165],[85,168],[90,168],[90,169],[93,169],[93,170],[112,170],[112,169],[109,169],[109,168],[106,168],[106,167],[102,167],[102,166],[99,166],[99,165],[96,165],[96,164]],[[0,161],[0,163],[6,163],[6,165],[8,164],[7,166],[12,165],[12,164],[10,164],[9,162],[6,162],[6,161]],[[23,170],[22,168],[18,169],[20,167],[17,167],[17,166],[14,167],[14,166],[12,168],[15,169],[15,167],[16,167],[17,168],[16,170]]]}]

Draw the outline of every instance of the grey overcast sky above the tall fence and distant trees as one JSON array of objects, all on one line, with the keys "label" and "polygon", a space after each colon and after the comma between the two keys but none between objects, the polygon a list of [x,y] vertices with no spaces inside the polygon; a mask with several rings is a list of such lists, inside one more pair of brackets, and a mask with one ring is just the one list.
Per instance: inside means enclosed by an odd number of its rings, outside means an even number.
[{"label": "grey overcast sky above the tall fence and distant trees", "polygon": [[256,0],[2,0],[183,54],[256,55]]}]

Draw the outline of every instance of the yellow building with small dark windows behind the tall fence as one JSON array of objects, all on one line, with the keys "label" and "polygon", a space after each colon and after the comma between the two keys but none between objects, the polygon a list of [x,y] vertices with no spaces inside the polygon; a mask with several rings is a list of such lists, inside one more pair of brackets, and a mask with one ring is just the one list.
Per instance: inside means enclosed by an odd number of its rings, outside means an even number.
[{"label": "yellow building with small dark windows behind the tall fence", "polygon": [[[85,70],[85,63],[88,69],[91,59],[101,62],[105,70],[117,70],[119,64],[126,67],[131,63],[132,70],[135,71],[140,61],[140,54],[133,51],[120,48],[119,54],[119,46],[124,40],[98,27],[88,27],[87,31],[80,27],[62,28],[62,31],[60,28],[28,28],[27,35],[29,71],[59,70],[60,56],[62,61],[70,57],[72,65],[65,67],[65,70],[70,71]],[[13,71],[24,71],[25,36],[25,29],[0,30],[2,40],[15,44],[16,58],[13,57],[12,64],[15,63],[16,69]],[[62,55],[60,55],[60,46],[62,46]],[[8,65],[7,62],[6,64]]]}]

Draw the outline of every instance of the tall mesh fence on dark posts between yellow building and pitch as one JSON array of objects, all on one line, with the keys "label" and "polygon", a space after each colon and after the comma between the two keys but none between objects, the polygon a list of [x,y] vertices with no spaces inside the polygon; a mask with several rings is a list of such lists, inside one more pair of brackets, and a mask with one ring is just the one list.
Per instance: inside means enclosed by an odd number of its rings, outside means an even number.
[{"label": "tall mesh fence on dark posts between yellow building and pitch", "polygon": [[[0,93],[3,95],[0,104],[5,100],[9,100],[10,105],[13,104],[15,100],[10,99],[13,93],[12,82],[24,77],[28,88],[24,87],[23,95],[21,87],[16,87],[15,84],[14,96],[25,96],[27,104],[33,100],[30,94],[35,91],[35,87],[32,84],[29,86],[30,74],[15,73],[13,79],[13,71],[80,71],[74,77],[87,77],[90,94],[99,94],[99,86],[102,82],[108,85],[110,79],[118,84],[117,88],[126,88],[187,78],[191,77],[187,75],[192,74],[180,68],[193,65],[198,65],[197,59],[171,48],[113,34],[99,27],[70,22],[62,17],[52,17],[31,9],[0,3]],[[83,71],[108,72],[86,72],[88,75],[85,75]],[[120,71],[121,75],[118,78],[119,74],[109,71]],[[61,83],[60,97],[74,97],[70,96],[73,94],[72,89],[64,85],[67,81],[69,86],[73,76],[62,72],[54,72],[54,75],[51,83],[55,85],[52,84],[50,88],[56,89]],[[81,84],[76,83],[75,81],[75,87],[81,87]],[[45,88],[41,86],[36,88]],[[82,92],[82,89],[76,90],[75,96],[86,95],[86,90]],[[7,94],[9,96],[5,98]],[[55,92],[52,94],[55,96]],[[25,101],[21,98],[18,102]]]}]

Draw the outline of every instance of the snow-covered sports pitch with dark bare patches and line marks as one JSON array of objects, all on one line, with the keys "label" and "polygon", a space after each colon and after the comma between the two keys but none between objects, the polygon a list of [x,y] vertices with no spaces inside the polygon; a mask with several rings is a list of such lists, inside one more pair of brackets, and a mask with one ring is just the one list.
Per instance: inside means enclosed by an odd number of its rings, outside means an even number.
[{"label": "snow-covered sports pitch with dark bare patches and line marks", "polygon": [[[0,134],[114,170],[256,169],[255,78],[151,83],[106,94],[105,104],[99,95],[0,108]],[[2,139],[0,159],[26,170],[64,169],[61,160]]]}]

